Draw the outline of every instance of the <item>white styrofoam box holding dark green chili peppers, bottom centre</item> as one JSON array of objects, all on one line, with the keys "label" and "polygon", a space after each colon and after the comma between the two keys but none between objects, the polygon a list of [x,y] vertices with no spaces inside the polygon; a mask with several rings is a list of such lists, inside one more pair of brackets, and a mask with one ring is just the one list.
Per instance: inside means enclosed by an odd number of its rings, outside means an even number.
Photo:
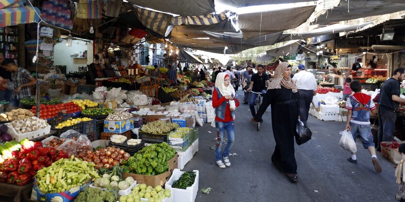
[{"label": "white styrofoam box holding dark green chili peppers, bottom centre", "polygon": [[175,169],[170,179],[166,182],[166,184],[164,184],[165,189],[172,190],[172,196],[174,196],[175,202],[194,202],[195,197],[197,196],[199,177],[198,171],[194,170],[194,172],[196,174],[194,184],[186,189],[172,188],[173,182],[178,180],[181,174],[184,173],[184,171],[180,171],[179,169]]}]

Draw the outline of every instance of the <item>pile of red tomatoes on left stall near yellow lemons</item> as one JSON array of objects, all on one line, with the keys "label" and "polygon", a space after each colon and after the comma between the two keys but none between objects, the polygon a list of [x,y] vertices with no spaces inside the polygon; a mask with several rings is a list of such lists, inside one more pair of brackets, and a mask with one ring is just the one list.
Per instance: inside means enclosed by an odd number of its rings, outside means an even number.
[{"label": "pile of red tomatoes on left stall near yellow lemons", "polygon": [[[32,113],[35,114],[36,106],[33,106],[31,111]],[[78,105],[74,104],[73,102],[57,105],[41,105],[39,108],[39,118],[50,119],[58,115],[59,112],[71,114],[79,111],[81,111],[81,108]]]}]

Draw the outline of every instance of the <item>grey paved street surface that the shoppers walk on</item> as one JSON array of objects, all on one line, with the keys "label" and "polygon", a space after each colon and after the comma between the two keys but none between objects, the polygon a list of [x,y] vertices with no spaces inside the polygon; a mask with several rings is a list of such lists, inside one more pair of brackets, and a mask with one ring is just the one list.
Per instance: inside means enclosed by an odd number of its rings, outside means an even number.
[{"label": "grey paved street surface that the shoppers walk on", "polygon": [[[243,100],[243,92],[238,93]],[[199,170],[199,189],[211,187],[213,191],[198,192],[196,202],[396,201],[395,165],[377,152],[383,171],[376,173],[371,156],[359,140],[358,164],[348,162],[350,153],[338,145],[343,122],[325,122],[310,116],[312,140],[295,145],[299,182],[292,184],[271,164],[275,141],[270,108],[260,131],[249,123],[250,118],[249,106],[241,103],[236,111],[235,143],[231,149],[237,155],[229,157],[232,166],[226,169],[214,164],[214,150],[210,150],[216,129],[210,124],[199,127],[199,151],[183,170]]]}]

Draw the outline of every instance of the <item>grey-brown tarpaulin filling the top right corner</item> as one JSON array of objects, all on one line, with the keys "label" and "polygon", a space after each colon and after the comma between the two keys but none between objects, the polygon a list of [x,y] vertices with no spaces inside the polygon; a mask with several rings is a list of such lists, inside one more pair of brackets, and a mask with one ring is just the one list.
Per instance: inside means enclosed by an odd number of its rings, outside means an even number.
[{"label": "grey-brown tarpaulin filling the top right corner", "polygon": [[330,24],[343,20],[379,16],[405,10],[405,0],[340,0],[337,7],[318,16],[315,24]]}]

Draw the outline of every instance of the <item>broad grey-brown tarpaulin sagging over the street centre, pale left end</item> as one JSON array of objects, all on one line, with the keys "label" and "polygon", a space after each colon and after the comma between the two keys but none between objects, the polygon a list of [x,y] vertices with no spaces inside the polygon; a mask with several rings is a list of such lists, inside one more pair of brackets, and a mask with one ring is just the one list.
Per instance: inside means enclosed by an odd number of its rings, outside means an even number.
[{"label": "broad grey-brown tarpaulin sagging over the street centre, pale left end", "polygon": [[306,22],[316,6],[303,6],[239,15],[239,28],[244,38],[259,37],[298,27]]}]

